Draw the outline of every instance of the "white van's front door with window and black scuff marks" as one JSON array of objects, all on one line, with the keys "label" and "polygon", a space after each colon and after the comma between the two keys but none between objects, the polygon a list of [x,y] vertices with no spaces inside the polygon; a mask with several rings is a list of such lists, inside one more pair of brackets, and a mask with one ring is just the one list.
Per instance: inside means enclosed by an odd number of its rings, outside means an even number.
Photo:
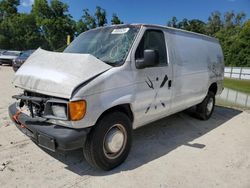
[{"label": "white van's front door with window and black scuff marks", "polygon": [[138,82],[133,111],[137,127],[166,116],[171,108],[172,69],[168,64],[164,32],[145,30],[135,51],[135,61],[143,58],[146,49],[159,54],[159,63],[136,70]]}]

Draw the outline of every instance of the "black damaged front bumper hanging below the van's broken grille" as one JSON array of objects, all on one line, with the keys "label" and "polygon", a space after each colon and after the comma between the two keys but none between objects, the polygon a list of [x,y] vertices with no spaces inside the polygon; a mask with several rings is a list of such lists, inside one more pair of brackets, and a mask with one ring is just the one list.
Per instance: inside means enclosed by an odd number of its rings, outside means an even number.
[{"label": "black damaged front bumper hanging below the van's broken grille", "polygon": [[50,151],[82,148],[89,129],[71,129],[32,118],[18,110],[16,103],[9,106],[9,116],[16,127],[39,146]]}]

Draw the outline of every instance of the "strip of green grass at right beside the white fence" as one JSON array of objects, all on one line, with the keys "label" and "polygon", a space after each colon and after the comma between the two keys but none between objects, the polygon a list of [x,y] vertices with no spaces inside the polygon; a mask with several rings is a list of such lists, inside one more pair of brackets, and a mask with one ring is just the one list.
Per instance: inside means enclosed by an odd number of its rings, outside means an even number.
[{"label": "strip of green grass at right beside the white fence", "polygon": [[250,80],[224,78],[224,87],[250,94]]}]

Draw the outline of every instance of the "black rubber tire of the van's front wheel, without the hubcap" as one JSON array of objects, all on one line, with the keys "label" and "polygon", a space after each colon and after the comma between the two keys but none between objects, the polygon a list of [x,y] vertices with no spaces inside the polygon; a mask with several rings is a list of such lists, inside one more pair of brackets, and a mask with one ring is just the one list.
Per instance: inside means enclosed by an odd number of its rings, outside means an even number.
[{"label": "black rubber tire of the van's front wheel, without the hubcap", "polygon": [[[111,154],[106,152],[105,143],[107,142],[105,142],[105,140],[107,139],[106,135],[108,135],[116,125],[122,125],[122,127],[119,128],[123,130],[124,140],[119,152],[117,152],[117,154],[112,154],[114,156],[111,157]],[[102,170],[111,170],[120,165],[127,158],[131,143],[131,120],[122,112],[111,112],[103,116],[92,128],[85,142],[83,154],[87,162],[92,166]]]}]

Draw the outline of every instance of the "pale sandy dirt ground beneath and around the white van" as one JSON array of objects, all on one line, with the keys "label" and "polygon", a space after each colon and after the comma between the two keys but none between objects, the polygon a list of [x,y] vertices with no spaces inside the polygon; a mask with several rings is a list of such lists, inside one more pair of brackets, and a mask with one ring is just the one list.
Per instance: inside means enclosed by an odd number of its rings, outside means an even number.
[{"label": "pale sandy dirt ground beneath and around the white van", "polygon": [[18,90],[0,67],[0,187],[250,187],[250,113],[216,107],[209,121],[186,112],[134,132],[128,159],[103,172],[82,151],[49,153],[10,121]]}]

